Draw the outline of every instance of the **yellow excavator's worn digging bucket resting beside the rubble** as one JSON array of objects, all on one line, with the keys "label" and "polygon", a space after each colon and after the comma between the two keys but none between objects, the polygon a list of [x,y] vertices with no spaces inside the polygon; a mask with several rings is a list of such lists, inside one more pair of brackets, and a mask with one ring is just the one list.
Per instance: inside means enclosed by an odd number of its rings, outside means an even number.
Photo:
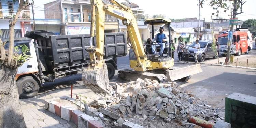
[{"label": "yellow excavator's worn digging bucket resting beside the rubble", "polygon": [[102,67],[88,66],[83,70],[82,80],[85,86],[94,93],[106,93],[111,95],[112,87],[109,85],[108,69],[106,64]]}]

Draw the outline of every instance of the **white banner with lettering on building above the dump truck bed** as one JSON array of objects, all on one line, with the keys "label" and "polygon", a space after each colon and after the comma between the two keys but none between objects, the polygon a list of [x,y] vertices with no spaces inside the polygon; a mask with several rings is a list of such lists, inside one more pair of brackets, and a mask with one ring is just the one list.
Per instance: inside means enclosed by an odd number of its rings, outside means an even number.
[{"label": "white banner with lettering on building above the dump truck bed", "polygon": [[85,26],[68,26],[68,35],[90,34],[90,27]]}]

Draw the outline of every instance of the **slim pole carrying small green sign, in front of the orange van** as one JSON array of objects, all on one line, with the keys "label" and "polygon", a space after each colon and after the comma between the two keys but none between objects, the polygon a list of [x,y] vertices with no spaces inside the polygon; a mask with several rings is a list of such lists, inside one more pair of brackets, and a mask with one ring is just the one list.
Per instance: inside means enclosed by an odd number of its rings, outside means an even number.
[{"label": "slim pole carrying small green sign, in front of the orange van", "polygon": [[[236,13],[237,13],[237,6],[236,5],[237,5],[237,0],[234,0],[232,18],[236,18]],[[231,25],[230,32],[232,34],[233,34],[233,29],[234,29],[234,25]],[[228,51],[227,51],[227,56],[226,56],[226,63],[229,63],[230,47],[231,47],[232,40],[233,40],[233,35],[232,35],[232,38],[230,40],[228,40]]]}]

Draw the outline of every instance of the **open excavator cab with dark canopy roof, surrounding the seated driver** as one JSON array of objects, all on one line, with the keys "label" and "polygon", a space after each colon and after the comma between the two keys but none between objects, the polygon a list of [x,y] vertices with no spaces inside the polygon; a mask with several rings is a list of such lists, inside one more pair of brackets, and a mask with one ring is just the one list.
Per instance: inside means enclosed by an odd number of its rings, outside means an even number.
[{"label": "open excavator cab with dark canopy roof, surrounding the seated driver", "polygon": [[[167,24],[168,28],[165,28],[164,33],[166,33],[166,31],[168,31],[168,33],[169,33],[168,35],[170,35],[170,33],[171,33],[171,28],[170,28],[171,20],[169,20],[169,19],[148,19],[144,22],[144,24],[151,25],[152,32],[154,32],[154,25]],[[171,58],[171,56],[172,56],[172,51],[171,51],[172,49],[170,48],[171,38],[170,38],[170,36],[167,38],[168,38],[168,41],[165,42],[165,48],[163,50],[162,56],[152,53],[152,45],[155,45],[157,53],[160,52],[161,49],[160,49],[158,42],[154,43],[150,40],[150,38],[147,39],[147,41],[144,44],[144,49],[145,49],[145,53],[147,55],[148,60],[164,61],[163,59]],[[154,39],[154,34],[152,34],[152,39]]]}]

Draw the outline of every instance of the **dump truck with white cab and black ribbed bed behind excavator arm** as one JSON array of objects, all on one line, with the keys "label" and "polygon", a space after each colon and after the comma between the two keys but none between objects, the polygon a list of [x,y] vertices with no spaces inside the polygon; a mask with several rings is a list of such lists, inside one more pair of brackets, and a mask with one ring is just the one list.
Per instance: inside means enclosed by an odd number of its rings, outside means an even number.
[{"label": "dump truck with white cab and black ribbed bed behind excavator arm", "polygon": [[[127,54],[126,33],[105,33],[104,60],[108,79],[112,79],[117,69],[117,57]],[[9,48],[8,39],[5,49]],[[95,38],[93,45],[95,45]],[[90,47],[90,35],[55,35],[48,31],[31,31],[25,38],[14,39],[14,46],[26,45],[30,58],[18,67],[16,81],[20,98],[34,97],[42,83],[80,73],[87,68],[90,60],[86,51]],[[21,50],[18,54],[22,54]]]}]

